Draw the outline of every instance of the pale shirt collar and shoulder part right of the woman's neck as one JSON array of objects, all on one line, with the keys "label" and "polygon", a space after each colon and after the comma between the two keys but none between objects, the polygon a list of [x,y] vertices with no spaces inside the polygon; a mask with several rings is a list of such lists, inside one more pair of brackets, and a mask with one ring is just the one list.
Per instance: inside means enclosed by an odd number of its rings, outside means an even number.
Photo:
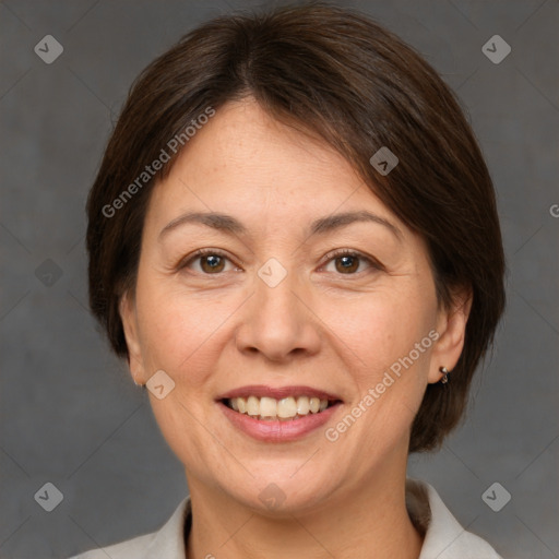
[{"label": "pale shirt collar and shoulder part right of the woman's neck", "polygon": [[425,533],[419,559],[502,559],[459,523],[431,485],[407,478],[406,504],[414,524]]}]

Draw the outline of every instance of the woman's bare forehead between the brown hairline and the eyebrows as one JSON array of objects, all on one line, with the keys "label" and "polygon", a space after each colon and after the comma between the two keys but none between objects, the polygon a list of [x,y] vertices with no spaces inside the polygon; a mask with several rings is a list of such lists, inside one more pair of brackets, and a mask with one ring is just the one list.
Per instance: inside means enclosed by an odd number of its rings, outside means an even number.
[{"label": "woman's bare forehead between the brown hairline and the eyebrows", "polygon": [[225,105],[197,131],[150,205],[157,221],[194,209],[285,226],[368,209],[397,222],[340,153],[251,99]]}]

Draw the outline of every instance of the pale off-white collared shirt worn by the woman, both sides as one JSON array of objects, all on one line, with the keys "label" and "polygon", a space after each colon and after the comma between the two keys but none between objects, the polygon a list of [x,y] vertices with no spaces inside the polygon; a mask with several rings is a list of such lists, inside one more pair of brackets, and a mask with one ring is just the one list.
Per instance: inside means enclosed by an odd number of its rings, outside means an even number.
[{"label": "pale off-white collared shirt worn by the woman, both sides", "polygon": [[[406,507],[413,523],[425,533],[418,559],[502,559],[487,542],[460,525],[431,485],[408,477]],[[157,532],[70,559],[188,559],[185,534],[191,523],[190,497],[186,497]]]}]

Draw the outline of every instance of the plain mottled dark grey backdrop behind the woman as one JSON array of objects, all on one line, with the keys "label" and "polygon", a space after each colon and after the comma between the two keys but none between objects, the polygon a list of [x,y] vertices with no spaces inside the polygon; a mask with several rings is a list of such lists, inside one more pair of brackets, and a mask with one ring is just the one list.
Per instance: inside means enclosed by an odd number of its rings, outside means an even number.
[{"label": "plain mottled dark grey backdrop behind the woman", "polygon": [[[199,22],[259,4],[0,3],[1,558],[68,557],[153,531],[188,491],[147,396],[87,311],[84,202],[138,72]],[[508,257],[508,312],[468,421],[439,453],[412,456],[409,475],[506,558],[559,557],[559,3],[347,4],[457,91],[498,189]],[[52,64],[34,52],[48,34],[64,48]],[[481,52],[495,34],[512,47],[499,64]],[[34,499],[47,481],[63,493],[52,512]],[[498,513],[481,499],[493,481],[512,495]]]}]

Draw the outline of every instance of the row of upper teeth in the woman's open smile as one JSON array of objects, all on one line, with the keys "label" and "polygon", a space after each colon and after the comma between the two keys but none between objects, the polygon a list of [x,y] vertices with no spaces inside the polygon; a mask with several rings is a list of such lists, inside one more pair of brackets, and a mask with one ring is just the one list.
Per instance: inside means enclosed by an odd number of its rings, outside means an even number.
[{"label": "row of upper teeth in the woman's open smile", "polygon": [[273,397],[231,397],[228,404],[233,409],[250,416],[260,416],[260,419],[280,418],[289,419],[297,415],[305,416],[309,412],[317,414],[328,407],[328,400],[308,396],[288,396],[282,400]]}]

